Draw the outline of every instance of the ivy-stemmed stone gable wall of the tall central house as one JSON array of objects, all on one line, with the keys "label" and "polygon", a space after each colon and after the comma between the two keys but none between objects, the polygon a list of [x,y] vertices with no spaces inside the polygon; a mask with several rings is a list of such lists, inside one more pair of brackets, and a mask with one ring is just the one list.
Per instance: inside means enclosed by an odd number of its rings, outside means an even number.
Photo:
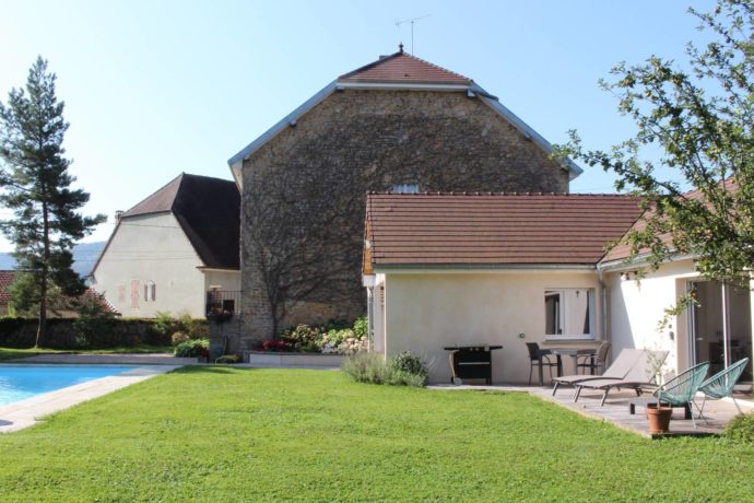
[{"label": "ivy-stemmed stone gable wall of the tall central house", "polygon": [[267,253],[299,249],[290,260],[305,267],[283,269],[317,283],[288,306],[279,328],[350,320],[366,311],[361,258],[368,190],[419,184],[421,191],[568,191],[566,169],[464,93],[337,92],[245,161],[243,176],[241,349],[272,335],[260,242]]}]

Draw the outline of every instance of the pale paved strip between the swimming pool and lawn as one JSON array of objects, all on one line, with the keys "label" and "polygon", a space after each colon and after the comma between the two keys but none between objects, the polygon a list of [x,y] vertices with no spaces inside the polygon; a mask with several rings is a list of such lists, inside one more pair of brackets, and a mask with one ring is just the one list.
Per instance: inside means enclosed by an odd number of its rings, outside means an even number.
[{"label": "pale paved strip between the swimming pool and lawn", "polygon": [[139,366],[117,375],[101,377],[2,406],[0,407],[0,433],[23,430],[43,421],[46,416],[54,412],[180,369],[180,366],[165,364]]}]

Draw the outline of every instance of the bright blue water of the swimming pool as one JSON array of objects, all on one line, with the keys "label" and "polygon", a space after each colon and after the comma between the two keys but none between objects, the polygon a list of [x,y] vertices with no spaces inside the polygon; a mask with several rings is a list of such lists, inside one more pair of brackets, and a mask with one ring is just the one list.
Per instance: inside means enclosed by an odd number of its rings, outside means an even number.
[{"label": "bright blue water of the swimming pool", "polygon": [[0,365],[0,406],[136,369],[127,365]]}]

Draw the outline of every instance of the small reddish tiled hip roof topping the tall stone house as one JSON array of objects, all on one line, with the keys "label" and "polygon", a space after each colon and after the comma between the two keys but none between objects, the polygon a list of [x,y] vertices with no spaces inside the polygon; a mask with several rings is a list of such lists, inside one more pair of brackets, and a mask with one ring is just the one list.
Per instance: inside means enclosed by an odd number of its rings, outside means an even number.
[{"label": "small reddish tiled hip roof topping the tall stone house", "polygon": [[433,65],[408,52],[382,57],[340,75],[338,82],[414,83],[469,85],[471,79]]}]

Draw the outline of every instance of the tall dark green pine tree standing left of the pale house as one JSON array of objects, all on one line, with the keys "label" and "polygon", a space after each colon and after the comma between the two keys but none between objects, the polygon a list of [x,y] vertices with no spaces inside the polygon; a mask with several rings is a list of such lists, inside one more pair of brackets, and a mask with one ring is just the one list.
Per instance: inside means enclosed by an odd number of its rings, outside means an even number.
[{"label": "tall dark green pine tree standing left of the pale house", "polygon": [[14,285],[16,305],[38,306],[36,346],[45,343],[51,294],[80,295],[83,280],[71,269],[73,245],[105,221],[76,210],[89,194],[72,189],[75,178],[62,147],[68,122],[64,103],[55,95],[55,73],[38,57],[28,71],[26,89],[13,89],[0,103],[0,203],[14,218],[0,230],[15,245],[13,256],[23,281]]}]

